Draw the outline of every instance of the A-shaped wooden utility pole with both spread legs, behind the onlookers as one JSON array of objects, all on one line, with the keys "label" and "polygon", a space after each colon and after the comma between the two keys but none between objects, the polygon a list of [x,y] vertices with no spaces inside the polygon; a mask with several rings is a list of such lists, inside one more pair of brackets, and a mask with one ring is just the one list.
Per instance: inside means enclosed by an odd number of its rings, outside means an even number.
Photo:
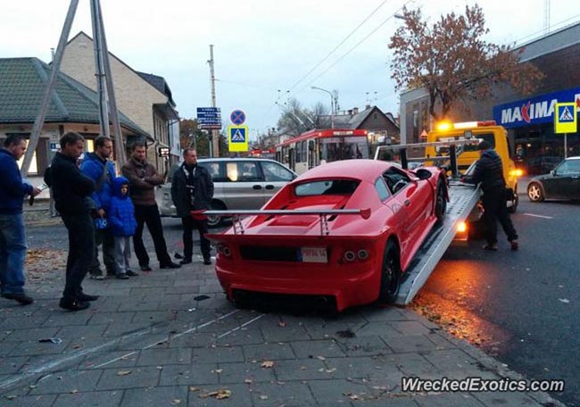
[{"label": "A-shaped wooden utility pole with both spread legs, behind the onlookers", "polygon": [[[46,112],[50,99],[53,96],[54,86],[56,85],[56,77],[61,69],[62,54],[64,54],[64,47],[69,39],[70,27],[74,21],[75,13],[79,0],[70,0],[69,12],[67,12],[64,25],[62,27],[61,37],[56,47],[56,54],[53,59],[53,69],[46,82],[45,93],[40,104],[40,110],[37,118],[32,126],[30,134],[29,145],[21,166],[21,174],[27,176],[29,173],[30,162],[32,156],[37,149],[38,139],[40,138],[40,131],[45,123]],[[99,95],[99,123],[101,125],[101,134],[109,136],[109,113],[112,117],[112,126],[114,130],[115,140],[115,154],[118,168],[126,161],[125,147],[123,137],[120,130],[119,112],[117,111],[117,104],[115,101],[114,88],[112,84],[111,65],[109,63],[109,51],[107,49],[107,41],[104,36],[103,14],[101,12],[101,4],[99,0],[91,0],[91,18],[93,23],[93,41],[95,44],[95,75],[97,83],[97,92]]]}]

